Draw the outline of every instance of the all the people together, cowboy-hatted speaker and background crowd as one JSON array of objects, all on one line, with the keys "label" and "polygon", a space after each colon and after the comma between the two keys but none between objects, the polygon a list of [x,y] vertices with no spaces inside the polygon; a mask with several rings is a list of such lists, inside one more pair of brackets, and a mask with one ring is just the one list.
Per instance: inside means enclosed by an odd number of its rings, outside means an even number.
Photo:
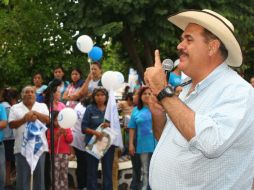
[{"label": "all the people together, cowboy-hatted speaker and background crowd", "polygon": [[[125,134],[122,154],[129,154],[132,162],[130,188],[251,189],[254,77],[250,79],[251,86],[229,67],[242,63],[233,25],[210,10],[184,11],[169,21],[184,30],[177,46],[180,59],[169,78],[156,50],[155,65],[145,72],[146,86],[136,85],[134,92],[127,90],[118,102]],[[12,171],[16,171],[16,189],[29,189],[31,170],[21,154],[24,131],[28,123],[37,120],[49,127],[50,111],[54,113],[54,142],[49,130],[42,134],[48,147],[33,173],[34,189],[50,189],[53,185],[55,189],[68,189],[70,155],[77,160],[79,189],[117,189],[118,171],[114,164],[119,148],[108,146],[110,138],[96,130],[98,126],[110,127],[104,117],[109,95],[100,80],[100,63],[92,63],[90,69],[83,80],[82,72],[74,68],[69,83],[63,68],[56,67],[53,74],[60,83],[53,86],[50,82],[50,89],[43,83],[42,74],[35,73],[34,84],[22,89],[21,101],[17,90],[2,90],[0,189],[11,185]],[[182,72],[188,75],[184,81]],[[67,129],[61,128],[57,120],[66,107],[74,109],[78,118]],[[94,151],[103,155],[100,160],[86,152],[92,137],[98,144]],[[48,175],[51,144],[55,154],[54,184]],[[103,152],[105,149],[107,152]],[[97,184],[99,162],[101,187]]]}]

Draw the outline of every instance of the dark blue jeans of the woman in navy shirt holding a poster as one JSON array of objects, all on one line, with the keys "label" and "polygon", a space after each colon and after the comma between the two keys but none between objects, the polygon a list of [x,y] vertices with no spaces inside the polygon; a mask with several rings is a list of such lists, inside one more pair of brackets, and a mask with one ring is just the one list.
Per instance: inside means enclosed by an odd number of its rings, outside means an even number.
[{"label": "dark blue jeans of the woman in navy shirt holding a poster", "polygon": [[[106,154],[101,159],[102,164],[102,175],[103,175],[103,190],[112,190],[112,168],[114,160],[115,146],[112,145]],[[97,190],[97,178],[98,178],[98,165],[99,160],[94,156],[87,153],[86,157],[87,164],[87,190]]]}]

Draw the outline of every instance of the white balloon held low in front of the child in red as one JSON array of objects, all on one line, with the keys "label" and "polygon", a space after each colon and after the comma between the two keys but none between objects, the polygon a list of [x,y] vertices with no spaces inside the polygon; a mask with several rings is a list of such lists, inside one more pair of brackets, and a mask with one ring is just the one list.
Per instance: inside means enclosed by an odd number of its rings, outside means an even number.
[{"label": "white balloon held low in front of the child in red", "polygon": [[77,121],[77,114],[72,108],[64,108],[59,112],[57,121],[62,128],[71,128]]}]

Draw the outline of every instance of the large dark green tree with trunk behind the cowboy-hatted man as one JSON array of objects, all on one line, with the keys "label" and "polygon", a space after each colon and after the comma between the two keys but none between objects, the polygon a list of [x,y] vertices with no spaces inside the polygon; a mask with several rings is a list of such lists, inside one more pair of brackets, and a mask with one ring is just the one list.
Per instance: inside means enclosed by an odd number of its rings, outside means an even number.
[{"label": "large dark green tree with trunk behind the cowboy-hatted man", "polygon": [[[59,15],[68,30],[94,36],[101,44],[106,34],[112,43],[120,42],[122,54],[128,54],[132,66],[142,76],[144,69],[153,63],[153,52],[161,50],[162,57],[177,58],[176,45],[181,31],[168,23],[167,17],[184,9],[212,9],[225,15],[233,22],[236,35],[243,47],[246,58],[243,68],[253,68],[253,1],[233,0],[86,0],[56,1],[60,6]],[[240,16],[239,16],[240,15]],[[248,35],[245,35],[248,34]]]}]

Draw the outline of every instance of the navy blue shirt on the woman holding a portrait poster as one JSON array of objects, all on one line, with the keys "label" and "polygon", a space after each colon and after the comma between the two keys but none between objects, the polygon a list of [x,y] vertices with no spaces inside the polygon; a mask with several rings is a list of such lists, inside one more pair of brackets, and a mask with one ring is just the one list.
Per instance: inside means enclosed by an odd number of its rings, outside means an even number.
[{"label": "navy blue shirt on the woman holding a portrait poster", "polygon": [[[97,127],[104,122],[105,111],[100,111],[96,105],[90,104],[87,106],[83,120],[82,120],[82,131],[85,129],[96,130]],[[93,135],[86,134],[85,142],[86,144],[90,141]]]}]

